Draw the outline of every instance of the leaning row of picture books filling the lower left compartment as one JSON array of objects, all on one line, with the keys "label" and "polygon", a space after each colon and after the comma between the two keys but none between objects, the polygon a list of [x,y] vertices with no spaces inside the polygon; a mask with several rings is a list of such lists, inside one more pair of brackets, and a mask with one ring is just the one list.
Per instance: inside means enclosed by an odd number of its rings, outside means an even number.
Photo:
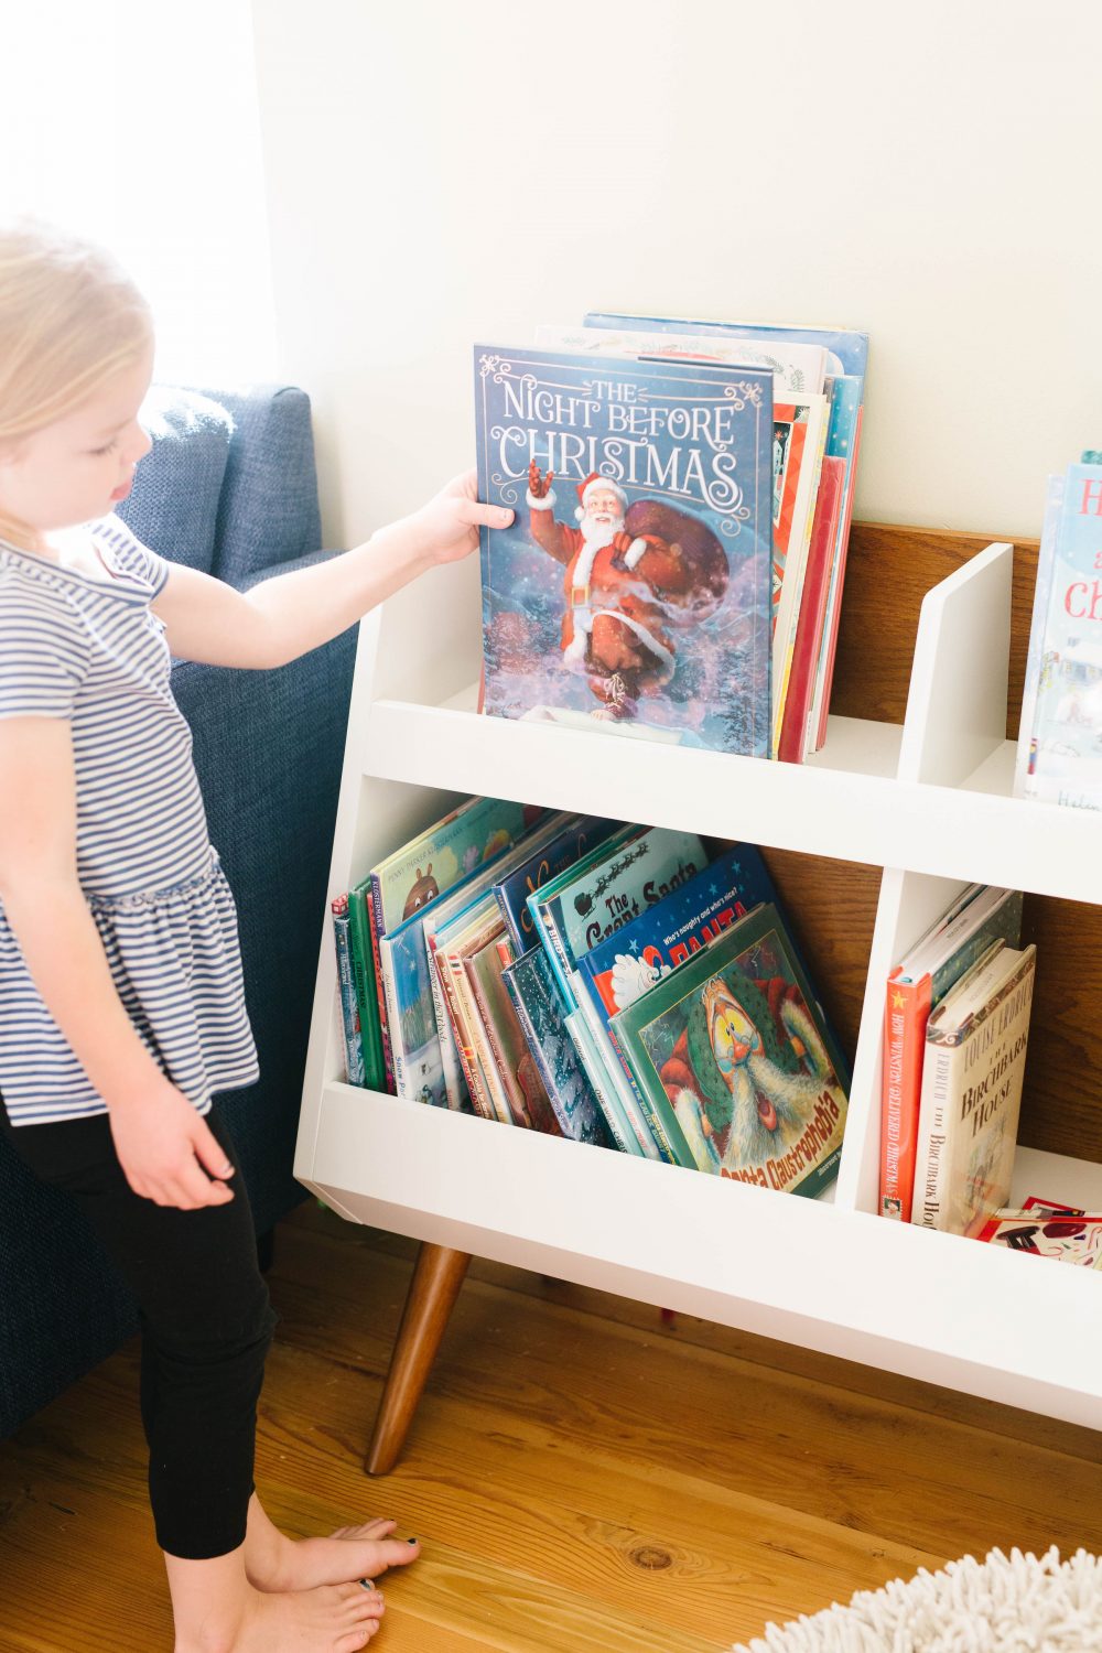
[{"label": "leaning row of picture books filling the lower left compartment", "polygon": [[815,1195],[849,1076],[753,845],[469,798],[334,903],[354,1084]]}]

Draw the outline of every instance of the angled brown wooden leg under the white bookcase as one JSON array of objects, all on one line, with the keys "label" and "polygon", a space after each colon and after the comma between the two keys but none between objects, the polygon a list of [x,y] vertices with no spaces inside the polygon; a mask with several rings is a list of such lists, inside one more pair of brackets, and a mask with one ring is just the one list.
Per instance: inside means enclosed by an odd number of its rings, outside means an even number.
[{"label": "angled brown wooden leg under the white bookcase", "polygon": [[372,1445],[367,1448],[368,1474],[388,1474],[398,1461],[469,1261],[468,1251],[449,1251],[448,1246],[428,1241],[418,1251]]}]

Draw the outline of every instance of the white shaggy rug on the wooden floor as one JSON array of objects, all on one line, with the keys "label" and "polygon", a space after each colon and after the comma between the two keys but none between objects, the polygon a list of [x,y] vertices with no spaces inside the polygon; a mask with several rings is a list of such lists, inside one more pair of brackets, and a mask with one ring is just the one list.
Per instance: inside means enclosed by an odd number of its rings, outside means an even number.
[{"label": "white shaggy rug on the wooden floor", "polygon": [[1102,1562],[1077,1551],[1039,1560],[1013,1549],[920,1567],[910,1580],[859,1590],[813,1618],[767,1625],[734,1653],[1097,1653],[1102,1650]]}]

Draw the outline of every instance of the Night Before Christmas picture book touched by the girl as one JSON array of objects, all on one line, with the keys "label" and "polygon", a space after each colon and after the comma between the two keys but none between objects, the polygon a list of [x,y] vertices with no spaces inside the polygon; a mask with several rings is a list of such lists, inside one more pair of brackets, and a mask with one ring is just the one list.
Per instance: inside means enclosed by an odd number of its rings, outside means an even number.
[{"label": "Night Before Christmas picture book touched by the girl", "polygon": [[477,345],[484,709],[770,755],[773,375]]}]

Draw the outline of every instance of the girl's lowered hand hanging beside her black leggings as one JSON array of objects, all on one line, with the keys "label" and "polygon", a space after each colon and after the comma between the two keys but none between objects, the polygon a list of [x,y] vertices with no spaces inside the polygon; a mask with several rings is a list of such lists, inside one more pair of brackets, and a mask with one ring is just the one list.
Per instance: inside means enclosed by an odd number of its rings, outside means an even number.
[{"label": "girl's lowered hand hanging beside her black leggings", "polygon": [[207,1121],[169,1079],[111,1104],[111,1134],[126,1180],[155,1205],[193,1212],[226,1205],[233,1165]]}]

